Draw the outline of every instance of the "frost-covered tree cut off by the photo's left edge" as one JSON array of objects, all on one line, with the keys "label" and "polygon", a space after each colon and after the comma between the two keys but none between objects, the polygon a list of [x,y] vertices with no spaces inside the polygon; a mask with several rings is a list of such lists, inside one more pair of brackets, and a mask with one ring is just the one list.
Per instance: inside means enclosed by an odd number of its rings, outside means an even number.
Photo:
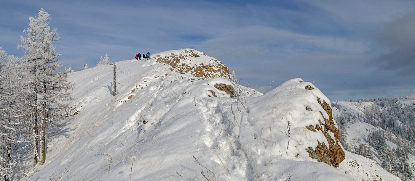
[{"label": "frost-covered tree cut off by the photo's left edge", "polygon": [[7,56],[0,46],[0,181],[11,180],[12,160],[16,160],[12,150],[16,150],[13,147],[19,139],[17,136],[28,127],[24,121],[26,102],[17,60],[14,56]]}]

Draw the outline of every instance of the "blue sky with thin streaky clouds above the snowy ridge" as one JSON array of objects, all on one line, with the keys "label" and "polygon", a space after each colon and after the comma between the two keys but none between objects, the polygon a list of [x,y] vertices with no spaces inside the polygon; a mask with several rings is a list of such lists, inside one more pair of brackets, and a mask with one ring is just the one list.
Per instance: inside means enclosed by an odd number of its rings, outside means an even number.
[{"label": "blue sky with thin streaky clouds above the snowy ridge", "polygon": [[414,0],[0,0],[0,45],[43,8],[74,70],[193,48],[264,92],[295,77],[331,100],[415,96]]}]

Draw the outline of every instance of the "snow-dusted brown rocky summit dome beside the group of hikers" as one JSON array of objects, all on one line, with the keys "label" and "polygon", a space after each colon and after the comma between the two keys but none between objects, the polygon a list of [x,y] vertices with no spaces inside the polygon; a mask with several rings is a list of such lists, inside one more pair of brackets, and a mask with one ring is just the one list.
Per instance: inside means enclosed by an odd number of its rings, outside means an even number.
[{"label": "snow-dusted brown rocky summit dome beside the group of hikers", "polygon": [[172,71],[191,74],[199,80],[230,76],[229,69],[221,61],[190,48],[156,53],[151,58],[170,65]]}]

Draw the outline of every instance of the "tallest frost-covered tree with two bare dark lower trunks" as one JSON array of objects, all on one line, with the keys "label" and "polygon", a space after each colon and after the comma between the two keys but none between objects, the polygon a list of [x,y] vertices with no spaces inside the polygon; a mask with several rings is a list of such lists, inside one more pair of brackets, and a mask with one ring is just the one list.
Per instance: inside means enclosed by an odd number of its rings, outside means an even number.
[{"label": "tallest frost-covered tree with two bare dark lower trunks", "polygon": [[[61,53],[56,53],[53,41],[59,41],[56,29],[48,24],[50,15],[43,9],[39,10],[38,17],[30,17],[29,28],[25,29],[27,37],[20,36],[21,48],[25,54],[22,58],[25,84],[29,88],[30,106],[32,106],[32,125],[34,133],[34,165],[39,161],[45,162],[46,127],[57,125],[63,115],[68,113],[66,101],[71,99],[67,89],[73,86],[66,81],[67,71],[58,72],[62,66],[59,62]],[[40,134],[39,134],[39,124]],[[39,143],[40,136],[40,143]],[[38,155],[38,145],[40,155]],[[38,159],[39,156],[39,159]]]}]

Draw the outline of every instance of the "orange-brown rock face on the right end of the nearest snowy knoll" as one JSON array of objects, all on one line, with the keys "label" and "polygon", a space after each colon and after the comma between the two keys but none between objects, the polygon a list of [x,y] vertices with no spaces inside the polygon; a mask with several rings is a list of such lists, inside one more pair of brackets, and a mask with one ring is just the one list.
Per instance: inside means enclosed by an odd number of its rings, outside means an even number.
[{"label": "orange-brown rock face on the right end of the nearest snowy knoll", "polygon": [[[322,108],[326,111],[329,115],[329,118],[325,118],[323,113],[320,111],[321,116],[324,118],[324,124],[319,120],[320,124],[315,125],[315,129],[321,130],[324,136],[329,143],[328,147],[324,142],[318,142],[317,147],[313,150],[312,147],[307,148],[307,152],[311,158],[317,159],[319,162],[325,162],[333,167],[339,167],[339,163],[344,160],[345,153],[342,150],[342,147],[339,144],[339,130],[336,128],[333,122],[332,116],[332,109],[330,105],[323,100],[321,102],[320,98],[317,98],[318,103],[322,106]],[[314,125],[306,126],[307,129],[316,132],[314,129]],[[328,132],[332,132],[334,134],[334,139],[330,136]],[[317,140],[318,141],[318,140]]]}]

